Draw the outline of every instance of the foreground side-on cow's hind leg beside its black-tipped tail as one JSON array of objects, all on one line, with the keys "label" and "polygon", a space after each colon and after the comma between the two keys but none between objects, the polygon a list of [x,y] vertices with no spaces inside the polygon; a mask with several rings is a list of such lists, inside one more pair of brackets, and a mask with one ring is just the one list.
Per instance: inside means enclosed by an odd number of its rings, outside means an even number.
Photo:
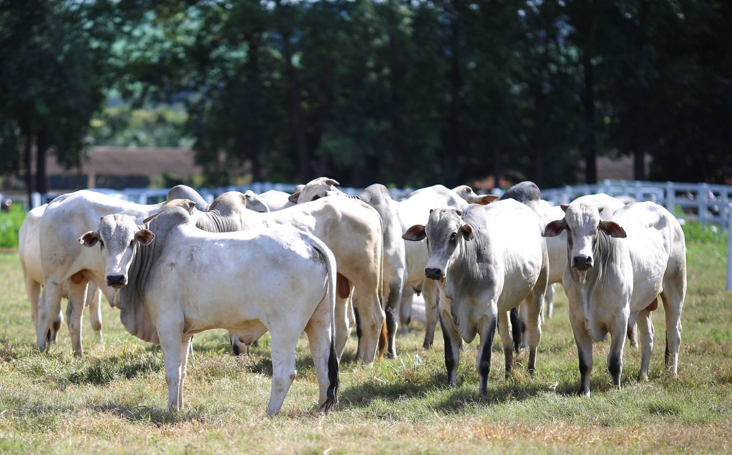
[{"label": "foreground side-on cow's hind leg beside its black-tipped tail", "polygon": [[328,386],[330,385],[328,359],[332,336],[329,307],[328,299],[324,298],[305,326],[307,343],[310,345],[310,354],[313,356],[315,365],[315,377],[318,379],[318,406],[323,405],[328,399]]}]

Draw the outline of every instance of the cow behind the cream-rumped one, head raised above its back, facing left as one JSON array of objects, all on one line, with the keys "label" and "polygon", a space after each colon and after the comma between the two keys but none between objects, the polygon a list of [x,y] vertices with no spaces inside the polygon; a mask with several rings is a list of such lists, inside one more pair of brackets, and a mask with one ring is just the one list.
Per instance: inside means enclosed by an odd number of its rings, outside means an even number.
[{"label": "cow behind the cream-rumped one, head raised above its back, facing left", "polygon": [[[406,273],[405,245],[402,240],[403,226],[399,217],[397,203],[389,195],[389,190],[382,184],[366,187],[359,195],[347,195],[337,189],[339,183],[332,178],[319,177],[305,184],[305,187],[294,193],[290,200],[298,204],[318,200],[326,196],[336,195],[359,199],[376,208],[384,226],[384,301],[386,305],[386,332],[389,345],[386,356],[396,357],[396,334],[399,319],[399,306],[404,287]],[[358,289],[354,299],[359,299]],[[356,313],[358,316],[358,313]]]}]

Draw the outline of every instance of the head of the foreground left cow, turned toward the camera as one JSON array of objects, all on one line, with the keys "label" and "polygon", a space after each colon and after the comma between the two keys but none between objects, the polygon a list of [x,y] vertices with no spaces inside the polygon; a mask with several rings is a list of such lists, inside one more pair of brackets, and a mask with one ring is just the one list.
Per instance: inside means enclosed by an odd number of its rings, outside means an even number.
[{"label": "head of the foreground left cow, turned toward the camera", "polygon": [[154,238],[155,234],[138,226],[134,217],[114,214],[102,217],[97,230],[85,233],[79,238],[79,243],[89,248],[100,244],[105,282],[119,289],[127,285],[127,274],[137,244],[149,245]]}]

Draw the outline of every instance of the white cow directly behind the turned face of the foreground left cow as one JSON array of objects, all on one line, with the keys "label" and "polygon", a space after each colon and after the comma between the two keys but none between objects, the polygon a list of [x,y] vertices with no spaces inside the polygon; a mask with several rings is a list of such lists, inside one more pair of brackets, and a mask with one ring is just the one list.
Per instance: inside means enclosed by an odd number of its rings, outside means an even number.
[{"label": "white cow directly behind the turned face of the foreground left cow", "polygon": [[108,301],[113,298],[113,290],[105,284],[102,258],[78,245],[79,233],[94,229],[105,215],[124,213],[142,222],[162,208],[163,203],[146,206],[87,189],[61,195],[48,204],[40,222],[43,291],[38,302],[36,337],[41,350],[55,339],[61,324],[58,315],[65,285],[70,302],[67,326],[75,356],[83,355],[81,317],[87,283],[97,285]]}]

